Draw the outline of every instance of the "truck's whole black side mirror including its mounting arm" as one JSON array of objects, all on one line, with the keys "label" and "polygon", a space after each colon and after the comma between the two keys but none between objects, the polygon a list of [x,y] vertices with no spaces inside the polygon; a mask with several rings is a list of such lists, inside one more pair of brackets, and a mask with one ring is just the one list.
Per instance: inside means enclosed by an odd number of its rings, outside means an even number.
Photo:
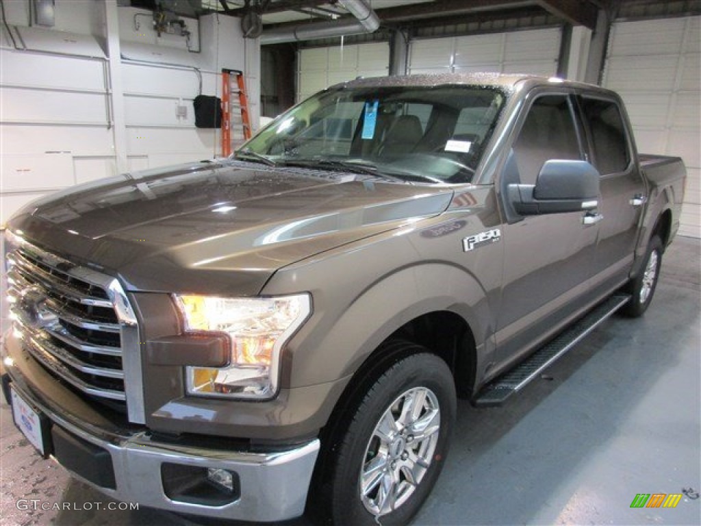
[{"label": "truck's whole black side mirror including its mounting arm", "polygon": [[599,205],[599,171],[587,161],[547,161],[536,184],[509,184],[508,196],[521,215],[592,210]]}]

